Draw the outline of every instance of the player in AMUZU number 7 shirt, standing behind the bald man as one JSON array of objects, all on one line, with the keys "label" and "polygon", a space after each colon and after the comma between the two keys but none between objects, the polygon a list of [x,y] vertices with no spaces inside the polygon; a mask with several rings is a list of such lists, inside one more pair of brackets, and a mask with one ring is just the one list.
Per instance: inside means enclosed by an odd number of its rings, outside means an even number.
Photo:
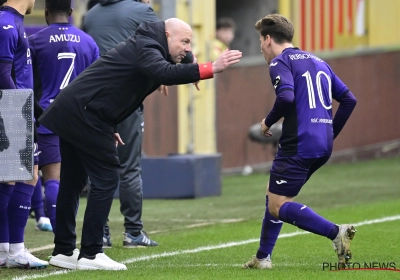
[{"label": "player in AMUZU number 7 shirt, standing behind the bald man", "polygon": [[[47,28],[29,37],[35,99],[45,110],[58,93],[99,58],[99,48],[85,32],[68,23],[71,0],[46,0]],[[39,168],[45,187],[45,208],[55,230],[60,185],[60,140],[45,126],[38,127]]]}]

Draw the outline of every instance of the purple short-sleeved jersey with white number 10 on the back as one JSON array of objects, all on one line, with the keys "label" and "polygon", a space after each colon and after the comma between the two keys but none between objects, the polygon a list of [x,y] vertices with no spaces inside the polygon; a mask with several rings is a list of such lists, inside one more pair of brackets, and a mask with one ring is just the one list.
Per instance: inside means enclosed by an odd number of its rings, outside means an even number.
[{"label": "purple short-sleeved jersey with white number 10 on the back", "polygon": [[287,48],[270,63],[276,94],[292,90],[295,101],[286,114],[278,155],[329,156],[333,146],[332,98],[349,90],[319,57]]}]

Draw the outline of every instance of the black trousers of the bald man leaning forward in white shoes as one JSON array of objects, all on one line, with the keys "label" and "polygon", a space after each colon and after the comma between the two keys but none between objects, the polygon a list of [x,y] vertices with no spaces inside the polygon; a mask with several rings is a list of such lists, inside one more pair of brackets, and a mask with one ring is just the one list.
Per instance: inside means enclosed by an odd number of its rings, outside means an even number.
[{"label": "black trousers of the bald man leaning forward in white shoes", "polygon": [[54,252],[66,254],[76,248],[75,230],[79,197],[89,176],[91,190],[83,221],[80,252],[94,256],[103,251],[103,228],[118,186],[118,165],[94,158],[62,138],[60,138],[60,151],[61,174]]}]

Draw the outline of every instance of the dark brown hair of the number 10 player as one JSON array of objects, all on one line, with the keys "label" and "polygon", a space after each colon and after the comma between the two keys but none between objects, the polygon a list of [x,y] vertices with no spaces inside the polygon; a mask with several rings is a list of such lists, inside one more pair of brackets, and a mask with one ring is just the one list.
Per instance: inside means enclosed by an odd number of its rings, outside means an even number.
[{"label": "dark brown hair of the number 10 player", "polygon": [[282,15],[268,15],[256,22],[255,29],[265,38],[267,35],[278,44],[291,43],[294,35],[293,24]]}]

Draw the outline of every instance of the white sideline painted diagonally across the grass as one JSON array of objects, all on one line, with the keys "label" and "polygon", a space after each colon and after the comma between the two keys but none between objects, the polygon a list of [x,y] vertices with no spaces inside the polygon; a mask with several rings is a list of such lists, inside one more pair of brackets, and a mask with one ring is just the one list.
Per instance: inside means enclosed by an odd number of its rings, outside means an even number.
[{"label": "white sideline painted diagonally across the grass", "polygon": [[[357,227],[357,226],[359,227],[359,226],[364,226],[364,225],[372,225],[372,224],[397,221],[397,220],[400,220],[400,215],[384,217],[381,219],[366,220],[363,222],[354,223],[352,225],[354,225],[355,227]],[[295,231],[295,232],[291,232],[291,233],[283,233],[283,234],[280,234],[278,236],[278,238],[287,238],[287,237],[293,237],[293,236],[304,235],[304,234],[309,234],[309,232]],[[259,242],[259,238],[253,238],[253,239],[237,241],[237,242],[228,242],[228,243],[224,243],[224,244],[220,244],[220,245],[216,245],[216,246],[204,246],[204,247],[198,247],[198,248],[189,249],[189,250],[165,252],[162,254],[154,254],[154,255],[149,255],[149,256],[127,259],[125,261],[122,261],[121,263],[130,264],[130,263],[139,262],[139,261],[146,261],[146,260],[158,259],[158,258],[163,258],[163,257],[171,257],[171,256],[176,256],[176,255],[181,255],[181,254],[193,254],[193,253],[199,253],[202,251],[210,251],[210,250],[216,250],[216,249],[241,246],[241,245],[246,245],[246,244],[255,243],[255,242]],[[70,272],[76,272],[76,270],[59,270],[59,271],[50,272],[47,274],[32,274],[32,275],[26,275],[26,276],[21,276],[21,277],[15,277],[15,278],[13,278],[13,280],[29,280],[29,279],[45,278],[45,277],[49,277],[49,276],[53,276],[53,275],[66,274],[66,273],[70,273]]]}]

